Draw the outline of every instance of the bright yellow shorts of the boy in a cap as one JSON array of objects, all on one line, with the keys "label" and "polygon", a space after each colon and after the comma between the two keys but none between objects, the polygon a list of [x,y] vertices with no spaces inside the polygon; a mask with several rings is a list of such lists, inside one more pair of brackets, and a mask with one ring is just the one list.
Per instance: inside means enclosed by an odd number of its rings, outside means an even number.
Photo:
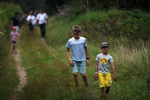
[{"label": "bright yellow shorts of the boy in a cap", "polygon": [[112,85],[112,79],[110,73],[99,73],[98,72],[98,82],[100,85],[100,88],[105,87],[111,87]]}]

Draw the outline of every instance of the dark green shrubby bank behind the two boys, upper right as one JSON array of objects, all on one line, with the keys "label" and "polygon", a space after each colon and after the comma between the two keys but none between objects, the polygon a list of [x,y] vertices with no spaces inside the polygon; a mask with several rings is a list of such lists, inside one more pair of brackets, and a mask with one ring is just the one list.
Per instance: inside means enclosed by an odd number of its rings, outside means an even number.
[{"label": "dark green shrubby bank behind the two boys, upper right", "polygon": [[[87,14],[89,16],[91,14]],[[130,40],[150,37],[149,14],[140,10],[121,11],[109,10],[107,13],[95,12],[93,17],[81,18],[79,24],[83,27],[84,35],[88,38],[126,36]]]}]

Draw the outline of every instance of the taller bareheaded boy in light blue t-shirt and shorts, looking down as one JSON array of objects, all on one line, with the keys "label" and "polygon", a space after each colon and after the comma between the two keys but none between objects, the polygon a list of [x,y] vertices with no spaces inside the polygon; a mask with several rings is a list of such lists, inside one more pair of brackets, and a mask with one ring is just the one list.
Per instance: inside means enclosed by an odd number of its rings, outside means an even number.
[{"label": "taller bareheaded boy in light blue t-shirt and shorts, looking down", "polygon": [[[86,76],[86,64],[89,66],[89,58],[88,58],[88,49],[87,49],[87,41],[86,38],[81,37],[81,27],[79,25],[74,25],[72,27],[72,35],[66,44],[67,50],[66,55],[69,60],[69,65],[72,66],[73,76],[75,81],[75,86],[78,86],[78,68],[79,73],[82,75],[83,81],[86,86],[88,86],[87,76]],[[72,59],[69,54],[69,50],[72,52]],[[86,57],[85,57],[86,56]]]}]

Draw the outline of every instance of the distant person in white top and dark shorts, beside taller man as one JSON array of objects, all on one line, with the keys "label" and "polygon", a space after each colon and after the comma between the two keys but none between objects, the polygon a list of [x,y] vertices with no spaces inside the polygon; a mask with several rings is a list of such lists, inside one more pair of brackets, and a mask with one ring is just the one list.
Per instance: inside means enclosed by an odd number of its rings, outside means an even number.
[{"label": "distant person in white top and dark shorts, beside taller man", "polygon": [[33,11],[29,12],[29,15],[27,16],[26,20],[27,20],[27,23],[29,25],[30,33],[31,33],[31,35],[33,35],[34,25],[36,23],[36,19],[35,19],[35,16],[33,15]]}]

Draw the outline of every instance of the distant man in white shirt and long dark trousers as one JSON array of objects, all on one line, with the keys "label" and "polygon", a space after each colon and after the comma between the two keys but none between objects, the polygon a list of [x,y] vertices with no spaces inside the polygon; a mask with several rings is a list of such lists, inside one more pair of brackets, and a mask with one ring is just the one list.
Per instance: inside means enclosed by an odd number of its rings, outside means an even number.
[{"label": "distant man in white shirt and long dark trousers", "polygon": [[45,38],[45,26],[46,24],[48,24],[48,16],[46,13],[43,12],[43,10],[40,10],[40,13],[38,13],[38,15],[36,16],[36,20],[40,25],[40,30],[41,30],[41,37]]}]

